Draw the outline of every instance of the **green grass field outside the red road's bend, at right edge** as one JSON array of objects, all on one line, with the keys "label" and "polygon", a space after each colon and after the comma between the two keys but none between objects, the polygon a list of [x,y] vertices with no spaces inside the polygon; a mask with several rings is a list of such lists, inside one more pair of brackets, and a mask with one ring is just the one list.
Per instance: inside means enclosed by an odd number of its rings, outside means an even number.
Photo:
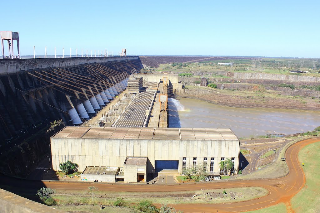
[{"label": "green grass field outside the red road's bend, at right edge", "polygon": [[306,184],[291,200],[292,208],[296,212],[320,211],[319,150],[320,139],[319,142],[304,147],[298,155],[299,162],[304,163]]}]

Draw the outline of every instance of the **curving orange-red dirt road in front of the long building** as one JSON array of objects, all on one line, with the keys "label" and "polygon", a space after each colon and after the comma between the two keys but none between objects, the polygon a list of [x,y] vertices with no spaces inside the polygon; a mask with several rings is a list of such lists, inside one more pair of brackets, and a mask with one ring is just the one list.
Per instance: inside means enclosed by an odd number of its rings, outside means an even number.
[{"label": "curving orange-red dirt road in front of the long building", "polygon": [[288,212],[291,209],[290,199],[305,184],[305,176],[298,161],[298,153],[304,146],[320,141],[319,138],[307,139],[291,145],[285,152],[286,163],[289,168],[289,174],[278,179],[260,179],[260,180],[234,180],[219,183],[199,183],[182,185],[116,185],[103,183],[70,183],[70,182],[47,182],[45,186],[55,189],[83,189],[88,186],[96,186],[104,191],[122,191],[122,192],[166,192],[166,191],[187,191],[207,189],[223,189],[233,187],[258,186],[266,188],[268,195],[250,201],[233,202],[226,204],[172,204],[176,209],[183,212],[239,212],[261,209],[277,203],[284,202]]}]

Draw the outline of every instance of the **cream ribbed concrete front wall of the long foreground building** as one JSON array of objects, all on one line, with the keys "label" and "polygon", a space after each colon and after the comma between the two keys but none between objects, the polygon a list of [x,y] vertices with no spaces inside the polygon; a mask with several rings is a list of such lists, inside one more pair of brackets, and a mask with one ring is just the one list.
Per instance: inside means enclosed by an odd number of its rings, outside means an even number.
[{"label": "cream ribbed concrete front wall of the long foreground building", "polygon": [[219,162],[224,157],[234,158],[234,169],[237,173],[239,146],[240,141],[235,136],[234,139],[224,140],[59,138],[58,135],[51,138],[54,170],[59,170],[59,164],[67,160],[79,164],[79,171],[83,171],[86,166],[122,167],[126,158],[132,156],[148,157],[149,172],[155,169],[155,160],[179,160],[179,172],[181,172],[183,157],[186,158],[187,165],[193,164],[194,157],[199,163],[206,157],[209,171],[210,159],[214,158],[213,172],[219,172]]}]

